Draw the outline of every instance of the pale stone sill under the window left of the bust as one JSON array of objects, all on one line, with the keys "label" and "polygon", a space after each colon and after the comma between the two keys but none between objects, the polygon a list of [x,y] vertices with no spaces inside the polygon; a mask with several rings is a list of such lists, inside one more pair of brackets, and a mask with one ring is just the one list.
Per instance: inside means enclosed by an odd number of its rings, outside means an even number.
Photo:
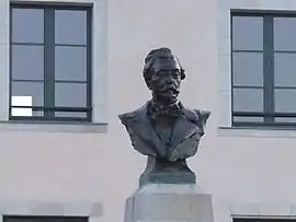
[{"label": "pale stone sill under the window left of the bust", "polygon": [[0,121],[0,131],[105,133],[107,124],[9,120]]}]

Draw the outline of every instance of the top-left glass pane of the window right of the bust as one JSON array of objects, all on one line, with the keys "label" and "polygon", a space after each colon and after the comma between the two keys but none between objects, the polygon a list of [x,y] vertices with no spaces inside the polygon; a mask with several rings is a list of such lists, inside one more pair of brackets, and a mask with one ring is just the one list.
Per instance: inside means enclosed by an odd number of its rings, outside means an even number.
[{"label": "top-left glass pane of the window right of the bust", "polygon": [[263,17],[232,16],[232,48],[263,49]]}]

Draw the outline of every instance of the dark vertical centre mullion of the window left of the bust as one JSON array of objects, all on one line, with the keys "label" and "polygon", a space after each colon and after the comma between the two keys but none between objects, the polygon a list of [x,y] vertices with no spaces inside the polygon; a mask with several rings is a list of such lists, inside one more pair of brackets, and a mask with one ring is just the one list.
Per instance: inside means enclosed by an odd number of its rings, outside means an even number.
[{"label": "dark vertical centre mullion of the window left of the bust", "polygon": [[55,10],[46,8],[44,11],[44,105],[45,118],[55,116]]}]

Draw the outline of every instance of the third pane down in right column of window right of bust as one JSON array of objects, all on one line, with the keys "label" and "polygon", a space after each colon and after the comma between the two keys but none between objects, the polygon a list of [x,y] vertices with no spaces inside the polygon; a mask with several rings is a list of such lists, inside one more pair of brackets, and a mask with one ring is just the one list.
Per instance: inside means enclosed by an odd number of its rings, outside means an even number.
[{"label": "third pane down in right column of window right of bust", "polygon": [[278,113],[296,113],[296,90],[275,90],[275,112]]}]

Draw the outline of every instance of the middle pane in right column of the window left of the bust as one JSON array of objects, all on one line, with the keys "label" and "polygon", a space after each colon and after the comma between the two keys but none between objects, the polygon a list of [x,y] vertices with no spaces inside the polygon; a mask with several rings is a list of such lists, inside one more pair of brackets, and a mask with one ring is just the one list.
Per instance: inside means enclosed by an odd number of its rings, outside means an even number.
[{"label": "middle pane in right column of the window left of the bust", "polygon": [[87,48],[57,46],[55,50],[56,80],[87,81]]}]

